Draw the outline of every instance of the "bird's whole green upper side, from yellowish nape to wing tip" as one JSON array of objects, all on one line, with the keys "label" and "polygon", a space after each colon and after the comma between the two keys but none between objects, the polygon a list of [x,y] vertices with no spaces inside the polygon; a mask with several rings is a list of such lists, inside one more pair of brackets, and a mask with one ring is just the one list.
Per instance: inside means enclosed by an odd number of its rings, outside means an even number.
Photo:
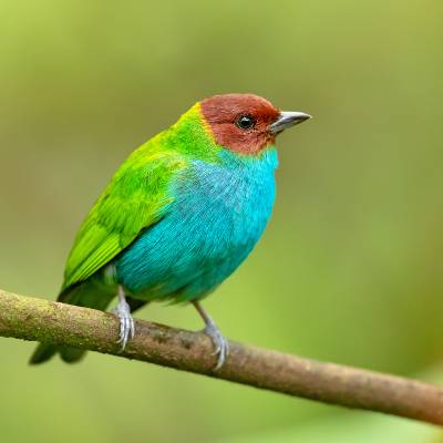
[{"label": "bird's whole green upper side, from yellowish nape to wing tip", "polygon": [[169,184],[189,158],[215,161],[218,151],[198,103],[134,151],[83,222],[68,258],[62,292],[91,277],[166,214],[174,200]]}]

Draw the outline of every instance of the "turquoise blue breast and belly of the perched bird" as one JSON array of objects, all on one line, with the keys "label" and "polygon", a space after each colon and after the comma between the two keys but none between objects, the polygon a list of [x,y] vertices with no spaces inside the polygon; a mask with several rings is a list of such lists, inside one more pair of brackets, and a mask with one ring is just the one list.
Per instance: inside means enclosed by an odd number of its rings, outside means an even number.
[{"label": "turquoise blue breast and belly of the perched bird", "polygon": [[270,217],[277,153],[258,158],[223,151],[219,164],[192,161],[171,189],[165,217],[117,258],[133,297],[186,301],[225,280],[253,250]]}]

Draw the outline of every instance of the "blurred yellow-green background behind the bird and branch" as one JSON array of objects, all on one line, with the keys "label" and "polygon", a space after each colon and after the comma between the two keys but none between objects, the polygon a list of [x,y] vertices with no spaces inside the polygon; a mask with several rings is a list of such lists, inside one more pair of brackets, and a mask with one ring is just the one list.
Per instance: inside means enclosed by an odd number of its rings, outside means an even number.
[{"label": "blurred yellow-green background behind the bird and branch", "polygon": [[[233,339],[443,379],[443,3],[0,3],[0,287],[54,298],[117,165],[197,100],[315,119],[279,140],[278,198],[206,301]],[[190,308],[140,317],[200,328]],[[2,442],[436,442],[425,425],[89,354],[30,368],[0,339]]]}]

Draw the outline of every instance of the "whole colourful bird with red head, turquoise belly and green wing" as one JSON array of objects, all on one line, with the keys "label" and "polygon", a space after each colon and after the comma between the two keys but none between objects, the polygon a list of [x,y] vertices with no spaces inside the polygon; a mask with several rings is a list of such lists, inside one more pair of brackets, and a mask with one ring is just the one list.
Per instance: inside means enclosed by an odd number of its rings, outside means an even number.
[{"label": "whole colourful bird with red head, turquoise belly and green wing", "polygon": [[[117,168],[76,234],[58,300],[104,311],[116,297],[122,351],[136,309],[193,305],[220,369],[228,341],[202,299],[261,237],[275,202],[276,137],[310,117],[250,93],[195,103]],[[56,353],[71,363],[85,350],[39,343],[30,363]]]}]

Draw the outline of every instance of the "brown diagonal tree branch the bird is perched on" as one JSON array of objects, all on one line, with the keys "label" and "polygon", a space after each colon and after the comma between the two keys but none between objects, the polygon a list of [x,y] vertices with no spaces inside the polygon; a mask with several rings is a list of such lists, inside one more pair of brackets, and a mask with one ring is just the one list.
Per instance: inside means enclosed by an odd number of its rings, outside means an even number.
[{"label": "brown diagonal tree branch the bird is perched on", "polygon": [[117,319],[106,312],[0,290],[0,336],[68,344],[196,372],[236,383],[443,424],[443,389],[419,381],[230,342],[214,372],[213,344],[200,332],[136,321],[120,353]]}]

